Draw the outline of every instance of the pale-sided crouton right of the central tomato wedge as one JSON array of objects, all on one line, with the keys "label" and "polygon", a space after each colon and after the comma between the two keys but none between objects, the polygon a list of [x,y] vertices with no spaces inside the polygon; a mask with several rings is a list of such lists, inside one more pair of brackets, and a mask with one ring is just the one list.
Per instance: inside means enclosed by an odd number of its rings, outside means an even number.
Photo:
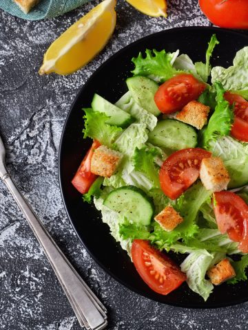
[{"label": "pale-sided crouton right of the central tomato wedge", "polygon": [[203,158],[200,164],[200,179],[207,190],[227,190],[230,177],[220,157]]}]

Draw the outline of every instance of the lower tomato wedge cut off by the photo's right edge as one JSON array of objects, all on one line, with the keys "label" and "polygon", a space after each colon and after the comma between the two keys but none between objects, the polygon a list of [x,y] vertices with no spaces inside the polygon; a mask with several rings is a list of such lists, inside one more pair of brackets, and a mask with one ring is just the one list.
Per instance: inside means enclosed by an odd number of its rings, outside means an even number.
[{"label": "lower tomato wedge cut off by the photo's right edge", "polygon": [[240,242],[238,248],[248,253],[248,206],[241,197],[230,191],[214,192],[214,214],[218,230],[227,232],[232,241]]}]

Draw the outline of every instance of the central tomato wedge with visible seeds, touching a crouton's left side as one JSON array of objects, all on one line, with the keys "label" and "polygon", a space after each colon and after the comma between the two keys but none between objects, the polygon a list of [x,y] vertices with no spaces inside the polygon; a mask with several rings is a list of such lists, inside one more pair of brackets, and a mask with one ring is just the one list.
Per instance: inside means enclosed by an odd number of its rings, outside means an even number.
[{"label": "central tomato wedge with visible seeds, touching a crouton's left side", "polygon": [[201,148],[187,148],[172,153],[161,167],[159,181],[165,195],[178,198],[199,177],[200,163],[211,153]]}]

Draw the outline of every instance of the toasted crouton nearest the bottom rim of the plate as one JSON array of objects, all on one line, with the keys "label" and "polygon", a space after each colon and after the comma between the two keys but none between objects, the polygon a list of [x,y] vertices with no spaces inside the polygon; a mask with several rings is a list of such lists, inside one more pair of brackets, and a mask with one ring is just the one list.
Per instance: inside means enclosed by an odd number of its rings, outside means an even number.
[{"label": "toasted crouton nearest the bottom rim of the plate", "polygon": [[211,283],[214,285],[220,285],[221,283],[236,276],[236,274],[229,260],[223,259],[207,271],[207,276],[209,276]]}]

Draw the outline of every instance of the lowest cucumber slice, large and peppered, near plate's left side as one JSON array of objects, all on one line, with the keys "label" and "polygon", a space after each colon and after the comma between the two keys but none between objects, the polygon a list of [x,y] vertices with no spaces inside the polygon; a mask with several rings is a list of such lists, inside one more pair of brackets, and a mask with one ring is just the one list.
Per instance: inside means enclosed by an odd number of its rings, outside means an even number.
[{"label": "lowest cucumber slice, large and peppered, near plate's left side", "polygon": [[143,190],[124,186],[112,190],[103,205],[118,212],[131,223],[149,225],[154,214],[154,204]]}]

